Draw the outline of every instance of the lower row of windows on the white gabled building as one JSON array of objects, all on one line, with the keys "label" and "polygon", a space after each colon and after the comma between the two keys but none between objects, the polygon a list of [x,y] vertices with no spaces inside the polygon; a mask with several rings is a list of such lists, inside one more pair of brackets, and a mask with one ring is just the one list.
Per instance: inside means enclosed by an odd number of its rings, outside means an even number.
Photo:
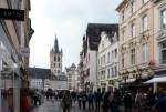
[{"label": "lower row of windows on the white gabled building", "polygon": [[105,80],[106,78],[117,77],[117,67],[112,67],[107,70],[102,70],[98,72],[98,78]]}]

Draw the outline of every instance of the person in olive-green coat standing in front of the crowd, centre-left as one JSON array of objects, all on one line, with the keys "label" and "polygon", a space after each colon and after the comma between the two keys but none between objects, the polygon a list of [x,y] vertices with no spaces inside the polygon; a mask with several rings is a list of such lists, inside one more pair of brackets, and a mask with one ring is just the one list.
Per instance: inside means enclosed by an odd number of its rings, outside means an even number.
[{"label": "person in olive-green coat standing in front of the crowd, centre-left", "polygon": [[72,99],[71,99],[70,91],[65,91],[62,98],[63,112],[70,112],[71,105],[72,105]]}]

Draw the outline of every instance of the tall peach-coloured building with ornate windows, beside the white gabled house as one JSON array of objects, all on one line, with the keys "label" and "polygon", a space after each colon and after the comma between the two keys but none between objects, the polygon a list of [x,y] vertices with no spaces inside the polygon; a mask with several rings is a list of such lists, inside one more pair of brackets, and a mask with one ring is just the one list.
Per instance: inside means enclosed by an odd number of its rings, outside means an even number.
[{"label": "tall peach-coloured building with ornate windows, beside the white gabled house", "polygon": [[[122,85],[134,91],[134,83],[138,86],[154,72],[153,2],[123,0],[116,10],[120,12],[118,59]],[[142,90],[147,89],[142,86]]]}]

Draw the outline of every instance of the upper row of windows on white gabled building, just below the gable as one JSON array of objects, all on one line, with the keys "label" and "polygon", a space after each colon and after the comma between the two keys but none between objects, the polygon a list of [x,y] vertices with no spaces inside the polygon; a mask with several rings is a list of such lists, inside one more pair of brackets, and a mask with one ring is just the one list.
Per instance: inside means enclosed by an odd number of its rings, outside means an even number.
[{"label": "upper row of windows on white gabled building, just below the gable", "polygon": [[[106,58],[107,58],[107,60],[106,60]],[[116,58],[117,58],[117,49],[114,49],[111,52],[107,52],[107,54],[104,54],[98,59],[98,65],[110,63],[111,60],[114,60]]]}]

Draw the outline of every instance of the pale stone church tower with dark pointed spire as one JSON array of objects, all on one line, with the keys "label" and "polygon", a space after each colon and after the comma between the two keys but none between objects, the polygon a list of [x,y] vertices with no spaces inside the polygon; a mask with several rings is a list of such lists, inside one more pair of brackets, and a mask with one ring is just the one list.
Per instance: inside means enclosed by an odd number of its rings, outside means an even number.
[{"label": "pale stone church tower with dark pointed spire", "polygon": [[62,74],[62,49],[59,49],[58,38],[55,35],[54,47],[50,51],[50,69],[53,75]]}]

